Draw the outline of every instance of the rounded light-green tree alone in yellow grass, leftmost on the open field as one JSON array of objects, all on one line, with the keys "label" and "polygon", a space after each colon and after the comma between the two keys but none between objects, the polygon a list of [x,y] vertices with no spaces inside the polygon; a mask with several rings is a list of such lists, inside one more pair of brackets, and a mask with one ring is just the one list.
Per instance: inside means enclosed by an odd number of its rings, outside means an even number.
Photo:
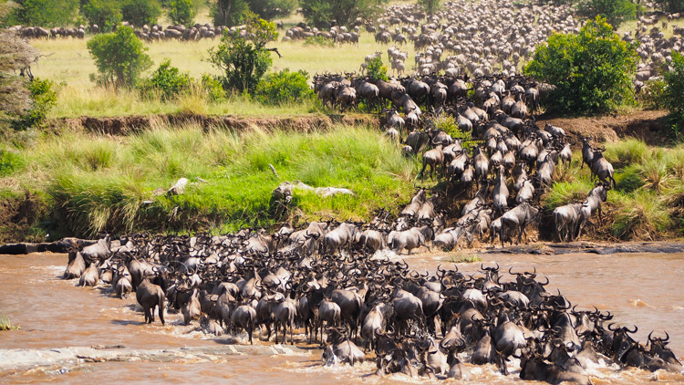
[{"label": "rounded light-green tree alone in yellow grass, leftmost on the open field", "polygon": [[134,86],[140,74],[152,66],[146,50],[130,26],[119,26],[115,33],[94,36],[88,41],[88,52],[95,58],[99,74],[91,78],[115,87]]}]

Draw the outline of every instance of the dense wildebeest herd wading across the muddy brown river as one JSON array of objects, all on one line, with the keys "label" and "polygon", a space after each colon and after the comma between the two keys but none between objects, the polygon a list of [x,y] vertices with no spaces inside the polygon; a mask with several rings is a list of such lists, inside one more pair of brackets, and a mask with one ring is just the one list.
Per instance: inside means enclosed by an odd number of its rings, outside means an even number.
[{"label": "dense wildebeest herd wading across the muddy brown river", "polygon": [[[377,374],[476,380],[463,363],[492,363],[524,380],[591,383],[587,365],[681,371],[664,338],[607,323],[612,315],[573,306],[536,270],[481,265],[463,274],[420,274],[359,245],[358,224],[314,222],[274,234],[133,234],[69,254],[64,277],[135,293],[145,322],[167,306],[205,333],[244,329],[275,342],[320,343],[328,365],[375,359]],[[368,234],[366,234],[368,237]],[[155,308],[157,309],[155,311]],[[281,332],[282,330],[282,332]],[[287,332],[289,331],[289,338]],[[281,334],[282,333],[282,334]],[[516,361],[514,359],[519,359]],[[511,363],[513,361],[513,363]]]}]

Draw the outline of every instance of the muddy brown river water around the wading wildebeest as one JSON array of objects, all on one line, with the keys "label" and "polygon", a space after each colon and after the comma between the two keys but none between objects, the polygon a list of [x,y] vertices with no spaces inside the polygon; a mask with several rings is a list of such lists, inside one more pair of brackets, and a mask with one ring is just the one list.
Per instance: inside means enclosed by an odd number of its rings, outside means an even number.
[{"label": "muddy brown river water around the wading wildebeest", "polygon": [[[496,262],[502,271],[532,270],[548,276],[548,287],[559,288],[579,308],[596,306],[609,310],[618,324],[638,326],[637,340],[648,333],[670,335],[669,347],[684,357],[684,254],[570,254],[570,255],[482,255],[485,264]],[[433,272],[447,258],[436,255],[408,256],[411,268]],[[0,332],[2,349],[58,349],[120,344],[131,349],[206,347],[234,342],[230,337],[208,337],[193,326],[182,326],[180,314],[168,314],[166,326],[157,319],[144,325],[135,296],[112,297],[107,286],[74,287],[78,280],[59,277],[67,255],[0,255],[0,316],[9,317],[20,330]],[[474,273],[480,264],[458,264],[462,272]],[[507,274],[503,275],[506,280]],[[510,279],[510,277],[509,277]],[[245,336],[237,336],[244,344]],[[300,346],[304,336],[297,337]],[[254,338],[254,344],[269,342]],[[392,375],[378,379],[370,375],[375,363],[355,367],[325,367],[315,347],[291,356],[224,356],[196,361],[171,362],[69,362],[36,369],[0,371],[0,383],[146,383],[239,384],[337,384],[337,383],[430,383]],[[492,366],[472,366],[474,383],[522,383],[515,360],[512,374],[503,377]],[[650,373],[637,369],[597,366],[587,373],[595,384],[639,384],[652,381],[684,384],[678,373]],[[444,382],[440,380],[440,382]],[[449,383],[457,381],[447,380]],[[529,382],[526,382],[529,383]]]}]

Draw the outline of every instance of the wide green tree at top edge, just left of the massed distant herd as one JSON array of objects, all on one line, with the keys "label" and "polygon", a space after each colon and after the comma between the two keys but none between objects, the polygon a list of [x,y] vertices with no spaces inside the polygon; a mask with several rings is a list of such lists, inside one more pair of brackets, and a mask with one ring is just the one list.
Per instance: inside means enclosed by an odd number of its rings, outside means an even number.
[{"label": "wide green tree at top edge, just left of the massed distant herd", "polygon": [[378,13],[382,0],[300,0],[306,21],[317,27],[329,27],[332,21],[348,26],[357,17],[369,19]]}]

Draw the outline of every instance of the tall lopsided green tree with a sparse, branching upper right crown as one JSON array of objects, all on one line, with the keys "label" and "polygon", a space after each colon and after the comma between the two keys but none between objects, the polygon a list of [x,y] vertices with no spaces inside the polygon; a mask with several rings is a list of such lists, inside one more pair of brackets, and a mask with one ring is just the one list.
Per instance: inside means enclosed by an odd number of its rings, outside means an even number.
[{"label": "tall lopsided green tree with a sparse, branching upper right crown", "polygon": [[[273,22],[257,18],[247,23],[245,32],[243,36],[239,30],[233,33],[225,30],[221,43],[209,50],[209,61],[225,74],[223,88],[253,94],[259,80],[271,67],[271,52],[277,53],[275,48],[265,46],[275,41],[278,33]],[[251,40],[245,36],[251,36]]]}]

